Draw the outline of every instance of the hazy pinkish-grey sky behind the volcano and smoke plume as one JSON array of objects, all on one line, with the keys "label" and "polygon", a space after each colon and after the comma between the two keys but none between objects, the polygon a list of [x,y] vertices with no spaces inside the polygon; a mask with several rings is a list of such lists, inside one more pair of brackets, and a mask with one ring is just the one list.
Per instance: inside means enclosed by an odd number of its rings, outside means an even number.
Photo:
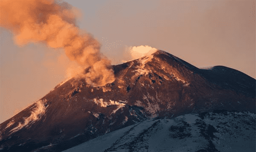
[{"label": "hazy pinkish-grey sky behind the volcano and smoke plume", "polygon": [[[101,43],[112,65],[140,57],[130,52],[144,46],[198,68],[227,66],[256,78],[255,0],[65,1],[82,12],[78,26]],[[12,32],[0,27],[0,123],[42,98],[76,67],[63,49],[17,46]]]}]

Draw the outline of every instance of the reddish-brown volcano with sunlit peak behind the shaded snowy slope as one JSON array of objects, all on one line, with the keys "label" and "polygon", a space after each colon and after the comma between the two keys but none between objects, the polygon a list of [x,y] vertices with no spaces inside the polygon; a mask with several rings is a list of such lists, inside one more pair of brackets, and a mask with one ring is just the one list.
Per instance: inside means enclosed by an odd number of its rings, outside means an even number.
[{"label": "reddish-brown volcano with sunlit peak behind the shaded snowy slope", "polygon": [[60,152],[152,118],[256,113],[256,80],[235,69],[198,69],[161,50],[112,69],[112,83],[73,77],[1,123],[0,151]]}]

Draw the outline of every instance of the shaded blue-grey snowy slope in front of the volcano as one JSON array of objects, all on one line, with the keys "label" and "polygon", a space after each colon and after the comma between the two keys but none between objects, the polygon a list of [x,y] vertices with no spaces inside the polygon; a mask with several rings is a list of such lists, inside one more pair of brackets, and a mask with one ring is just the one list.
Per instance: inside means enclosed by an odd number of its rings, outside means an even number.
[{"label": "shaded blue-grey snowy slope in front of the volcano", "polygon": [[255,152],[255,120],[225,110],[145,120],[63,152]]}]

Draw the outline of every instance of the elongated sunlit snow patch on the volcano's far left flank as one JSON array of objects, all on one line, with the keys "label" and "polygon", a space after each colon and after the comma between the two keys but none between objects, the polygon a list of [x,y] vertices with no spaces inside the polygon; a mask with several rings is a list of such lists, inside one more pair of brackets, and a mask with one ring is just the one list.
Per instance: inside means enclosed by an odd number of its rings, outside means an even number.
[{"label": "elongated sunlit snow patch on the volcano's far left flank", "polygon": [[29,123],[34,123],[36,120],[39,120],[39,116],[43,115],[45,113],[45,109],[46,107],[44,106],[44,102],[46,102],[47,100],[39,100],[37,102],[35,102],[35,108],[33,109],[33,111],[31,112],[31,115],[27,118],[24,118],[24,123],[19,122],[19,125],[15,128],[13,128],[10,132],[17,132],[18,130],[20,130],[21,128],[23,128],[24,126],[28,126]]}]

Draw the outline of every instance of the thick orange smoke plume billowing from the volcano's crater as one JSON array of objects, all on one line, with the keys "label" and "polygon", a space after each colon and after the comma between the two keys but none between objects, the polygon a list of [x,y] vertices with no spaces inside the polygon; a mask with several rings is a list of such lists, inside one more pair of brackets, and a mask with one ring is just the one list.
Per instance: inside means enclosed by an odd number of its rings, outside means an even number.
[{"label": "thick orange smoke plume billowing from the volcano's crater", "polygon": [[[100,53],[100,43],[79,29],[81,15],[64,1],[1,0],[0,26],[14,34],[18,46],[41,43],[51,48],[63,48],[70,60],[90,68],[83,76],[93,86],[103,86],[115,80],[111,62]],[[72,71],[72,70],[71,70]]]}]

